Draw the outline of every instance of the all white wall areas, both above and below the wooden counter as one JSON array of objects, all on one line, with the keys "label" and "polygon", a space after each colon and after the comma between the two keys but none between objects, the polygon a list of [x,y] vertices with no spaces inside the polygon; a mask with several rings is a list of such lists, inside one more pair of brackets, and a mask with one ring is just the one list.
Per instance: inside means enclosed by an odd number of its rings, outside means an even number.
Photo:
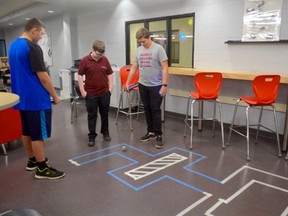
[{"label": "all white wall areas, both above and below the wooden counter", "polygon": [[[155,1],[157,2],[157,1]],[[155,3],[153,7],[139,8],[132,1],[120,1],[105,12],[95,12],[94,8],[79,10],[70,15],[70,38],[65,42],[63,22],[68,15],[44,20],[47,32],[52,34],[53,80],[59,87],[58,71],[69,68],[73,59],[82,58],[92,49],[95,39],[106,43],[106,55],[110,63],[122,66],[125,64],[125,21],[163,17],[185,13],[195,13],[195,58],[196,68],[214,68],[215,70],[248,70],[258,72],[288,73],[287,44],[238,44],[227,45],[227,40],[241,40],[243,0],[170,0],[167,4]],[[69,30],[66,32],[69,32]],[[21,33],[18,29],[7,30],[7,45]],[[282,25],[280,39],[288,39],[288,0],[283,0]],[[64,46],[65,44],[65,46]],[[72,53],[70,53],[72,52]],[[169,87],[191,90],[193,78],[170,76]],[[232,82],[233,83],[233,82]],[[223,83],[223,94],[235,97],[240,93],[250,93],[249,82],[242,87],[235,87],[241,82]],[[245,87],[243,87],[243,85]],[[231,89],[233,89],[231,91]],[[284,87],[280,91],[281,102],[286,102],[287,93]],[[238,93],[238,94],[237,94]],[[183,106],[179,106],[183,104]],[[185,105],[184,105],[185,104]],[[167,96],[166,110],[185,113],[186,99]],[[230,122],[233,107],[224,106],[225,122]],[[280,130],[283,132],[284,113],[279,113]],[[273,122],[273,119],[268,119]],[[273,128],[273,124],[272,124]]]}]

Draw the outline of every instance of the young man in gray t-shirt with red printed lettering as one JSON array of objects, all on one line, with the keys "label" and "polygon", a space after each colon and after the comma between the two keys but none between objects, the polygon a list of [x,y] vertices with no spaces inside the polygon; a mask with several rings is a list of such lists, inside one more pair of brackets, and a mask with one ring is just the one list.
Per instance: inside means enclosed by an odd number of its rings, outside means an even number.
[{"label": "young man in gray t-shirt with red printed lettering", "polygon": [[167,93],[168,57],[164,48],[151,40],[150,32],[146,28],[139,29],[136,38],[141,46],[137,48],[125,90],[128,91],[130,80],[139,68],[139,91],[147,122],[147,133],[141,137],[141,141],[156,138],[155,147],[161,149],[164,144],[160,106]]}]

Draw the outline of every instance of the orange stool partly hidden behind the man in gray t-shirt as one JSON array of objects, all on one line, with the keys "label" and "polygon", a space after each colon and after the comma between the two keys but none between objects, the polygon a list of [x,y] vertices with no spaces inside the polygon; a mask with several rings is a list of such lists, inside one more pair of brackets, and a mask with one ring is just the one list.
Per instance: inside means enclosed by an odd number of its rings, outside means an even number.
[{"label": "orange stool partly hidden behind the man in gray t-shirt", "polygon": [[[119,113],[123,113],[125,115],[127,115],[127,117],[129,117],[129,125],[130,125],[130,129],[131,131],[133,130],[133,126],[132,126],[132,115],[137,115],[137,119],[138,119],[138,115],[140,113],[144,113],[144,111],[142,109],[140,109],[140,94],[139,94],[139,88],[138,88],[138,80],[139,80],[139,69],[136,71],[134,77],[132,78],[132,80],[130,81],[130,86],[131,88],[129,89],[129,92],[126,92],[124,90],[124,86],[126,85],[127,79],[128,79],[128,75],[130,72],[130,68],[131,65],[127,65],[127,66],[123,66],[120,68],[120,80],[121,80],[121,85],[123,90],[120,93],[120,100],[119,100],[119,105],[118,105],[118,109],[117,109],[117,115],[116,115],[116,124],[118,123],[118,116]],[[126,100],[126,106],[124,107],[124,100],[123,100],[123,95],[126,94],[127,95],[127,100]],[[136,94],[136,103],[133,103],[133,99],[135,97]],[[136,106],[137,110],[133,111],[133,105]]]}]

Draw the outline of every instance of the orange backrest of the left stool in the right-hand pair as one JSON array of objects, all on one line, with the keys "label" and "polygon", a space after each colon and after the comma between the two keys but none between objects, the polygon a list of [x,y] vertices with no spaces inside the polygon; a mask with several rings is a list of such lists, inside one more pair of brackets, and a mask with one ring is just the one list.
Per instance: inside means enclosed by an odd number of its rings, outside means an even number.
[{"label": "orange backrest of the left stool in the right-hand pair", "polygon": [[194,84],[198,96],[196,99],[217,99],[222,85],[222,74],[218,72],[197,73],[194,77]]}]

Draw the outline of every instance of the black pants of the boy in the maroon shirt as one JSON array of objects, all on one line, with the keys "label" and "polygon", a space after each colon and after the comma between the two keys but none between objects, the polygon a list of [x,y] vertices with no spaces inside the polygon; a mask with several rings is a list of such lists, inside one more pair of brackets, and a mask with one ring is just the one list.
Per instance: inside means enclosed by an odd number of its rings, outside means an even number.
[{"label": "black pants of the boy in the maroon shirt", "polygon": [[110,106],[110,91],[100,96],[86,95],[86,108],[88,112],[89,138],[95,139],[98,108],[101,116],[101,133],[109,133],[108,113]]}]

